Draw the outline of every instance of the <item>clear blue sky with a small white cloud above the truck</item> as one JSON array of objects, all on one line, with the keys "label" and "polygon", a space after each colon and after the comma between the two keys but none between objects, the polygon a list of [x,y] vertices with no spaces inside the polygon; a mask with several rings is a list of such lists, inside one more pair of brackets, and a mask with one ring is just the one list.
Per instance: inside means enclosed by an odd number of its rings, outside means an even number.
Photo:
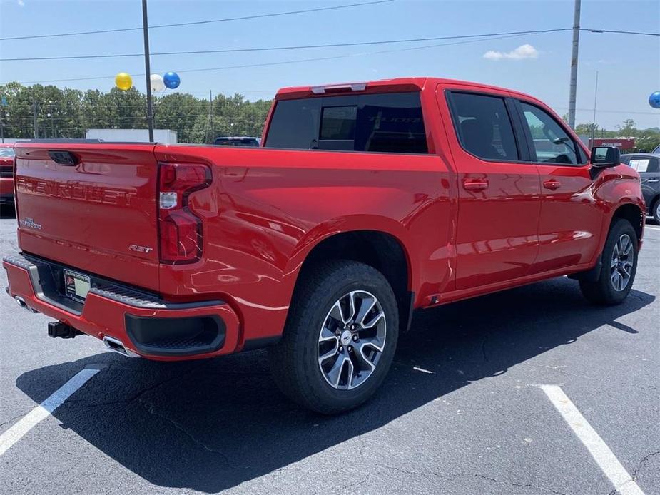
[{"label": "clear blue sky with a small white cloud above the truck", "polygon": [[[318,1],[149,1],[149,24],[354,4],[364,0]],[[141,26],[141,1],[1,0],[0,37]],[[151,51],[229,49],[300,44],[330,44],[572,26],[573,1],[424,1],[395,0],[270,19],[151,30]],[[596,29],[660,31],[660,2],[582,1],[582,26]],[[568,106],[570,31],[492,39],[455,46],[374,53],[440,44],[417,42],[387,46],[300,49],[253,53],[153,56],[153,72],[178,71],[178,91],[208,96],[243,93],[270,98],[280,86],[364,81],[395,76],[440,76],[479,81],[531,93],[564,114]],[[529,46],[527,46],[529,45]],[[522,48],[520,48],[522,46]],[[0,58],[140,53],[141,31],[71,36],[59,39],[0,41]],[[487,54],[488,53],[488,54]],[[347,56],[335,60],[276,66],[185,72],[300,58]],[[624,118],[639,127],[660,126],[660,111],[647,98],[660,91],[660,39],[651,36],[591,34],[580,39],[577,122],[590,122],[594,81],[599,71],[596,120],[614,128]],[[0,82],[50,81],[106,76],[59,86],[107,91],[113,74],[144,72],[143,58],[0,62]],[[133,82],[141,91],[143,76]]]}]

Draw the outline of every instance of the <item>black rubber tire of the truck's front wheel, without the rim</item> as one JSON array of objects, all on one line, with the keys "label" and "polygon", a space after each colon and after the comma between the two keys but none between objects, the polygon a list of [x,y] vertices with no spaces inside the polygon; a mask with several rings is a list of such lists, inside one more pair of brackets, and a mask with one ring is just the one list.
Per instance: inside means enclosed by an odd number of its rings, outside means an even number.
[{"label": "black rubber tire of the truck's front wheel, without the rim", "polygon": [[[616,243],[621,236],[627,235],[631,241],[631,261],[630,278],[622,290],[617,290],[612,281],[612,260]],[[639,248],[637,234],[628,220],[619,218],[614,221],[609,229],[607,240],[601,254],[601,271],[596,282],[580,280],[580,289],[582,294],[589,302],[596,305],[618,305],[628,297],[635,274],[637,272],[637,249]]]}]

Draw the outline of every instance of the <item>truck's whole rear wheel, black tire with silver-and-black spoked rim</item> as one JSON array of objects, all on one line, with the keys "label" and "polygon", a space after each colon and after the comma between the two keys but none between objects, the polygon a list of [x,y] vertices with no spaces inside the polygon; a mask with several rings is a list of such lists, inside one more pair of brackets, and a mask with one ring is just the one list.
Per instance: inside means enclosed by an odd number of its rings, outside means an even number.
[{"label": "truck's whole rear wheel, black tire with silver-and-black spoked rim", "polygon": [[359,262],[324,262],[301,276],[283,338],[269,351],[273,376],[308,409],[352,409],[372,396],[392,364],[394,292],[380,272]]}]

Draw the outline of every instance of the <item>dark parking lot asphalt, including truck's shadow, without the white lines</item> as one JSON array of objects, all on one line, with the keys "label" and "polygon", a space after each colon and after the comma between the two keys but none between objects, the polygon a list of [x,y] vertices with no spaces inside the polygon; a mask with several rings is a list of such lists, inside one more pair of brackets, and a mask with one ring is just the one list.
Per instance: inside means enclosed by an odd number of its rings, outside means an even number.
[{"label": "dark parking lot asphalt, including truck's shadow, without the white lines", "polygon": [[[15,230],[0,220],[1,255]],[[639,490],[660,494],[659,255],[649,225],[615,307],[562,277],[420,312],[377,396],[337,417],[285,399],[263,351],[128,359],[91,337],[49,338],[48,317],[2,293],[0,436],[100,370],[0,455],[0,492],[614,493],[540,387],[552,384]]]}]

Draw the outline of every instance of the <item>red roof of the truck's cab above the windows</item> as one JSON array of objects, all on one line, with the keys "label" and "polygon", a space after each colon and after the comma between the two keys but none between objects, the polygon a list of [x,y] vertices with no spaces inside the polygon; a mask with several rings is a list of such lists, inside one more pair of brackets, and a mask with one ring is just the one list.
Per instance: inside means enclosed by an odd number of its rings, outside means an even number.
[{"label": "red roof of the truck's cab above the windows", "polygon": [[275,99],[288,100],[291,98],[303,98],[318,94],[343,93],[350,91],[351,86],[360,88],[359,91],[367,93],[394,93],[396,91],[421,91],[425,86],[436,86],[437,84],[460,84],[462,86],[474,86],[479,89],[493,89],[497,91],[508,91],[517,96],[523,96],[532,100],[537,100],[533,96],[509,88],[501,88],[489,84],[475,83],[474,81],[460,81],[457,79],[437,78],[437,77],[398,77],[392,79],[379,79],[377,81],[353,81],[345,83],[329,83],[316,86],[290,86],[281,88],[275,95]]}]

